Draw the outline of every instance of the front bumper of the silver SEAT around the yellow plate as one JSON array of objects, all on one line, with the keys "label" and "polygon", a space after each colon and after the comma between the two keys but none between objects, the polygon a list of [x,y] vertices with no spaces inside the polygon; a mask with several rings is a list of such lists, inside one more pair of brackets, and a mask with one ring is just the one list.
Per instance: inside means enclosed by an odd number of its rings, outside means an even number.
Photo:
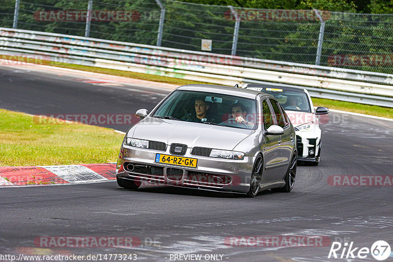
[{"label": "front bumper of the silver SEAT around the yellow plate", "polygon": [[249,191],[254,157],[244,157],[243,160],[200,157],[191,155],[191,150],[188,148],[182,157],[197,158],[196,168],[155,162],[156,154],[172,155],[168,146],[164,152],[122,145],[117,159],[116,177],[134,180],[142,185],[158,184],[236,193]]}]

